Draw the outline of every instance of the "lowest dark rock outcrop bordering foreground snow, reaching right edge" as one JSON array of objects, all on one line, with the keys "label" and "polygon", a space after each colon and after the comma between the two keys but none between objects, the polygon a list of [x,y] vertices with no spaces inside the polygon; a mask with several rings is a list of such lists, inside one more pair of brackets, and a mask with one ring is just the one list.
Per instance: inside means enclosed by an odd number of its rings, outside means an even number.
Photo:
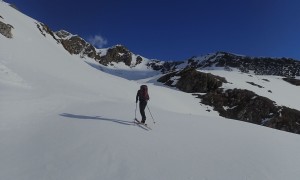
[{"label": "lowest dark rock outcrop bordering foreground snow, reaching right edge", "polygon": [[268,98],[248,90],[233,89],[198,95],[220,116],[300,134],[300,111],[277,106]]}]

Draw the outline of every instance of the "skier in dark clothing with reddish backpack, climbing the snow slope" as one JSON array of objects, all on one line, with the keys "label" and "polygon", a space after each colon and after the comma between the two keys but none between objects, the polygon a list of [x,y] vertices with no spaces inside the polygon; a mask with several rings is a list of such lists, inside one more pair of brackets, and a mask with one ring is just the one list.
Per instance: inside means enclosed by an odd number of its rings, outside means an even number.
[{"label": "skier in dark clothing with reddish backpack, climbing the snow slope", "polygon": [[135,103],[137,103],[138,100],[140,101],[139,107],[142,116],[141,123],[144,124],[146,121],[145,108],[147,106],[147,101],[149,100],[148,87],[146,85],[141,85],[140,90],[138,90]]}]

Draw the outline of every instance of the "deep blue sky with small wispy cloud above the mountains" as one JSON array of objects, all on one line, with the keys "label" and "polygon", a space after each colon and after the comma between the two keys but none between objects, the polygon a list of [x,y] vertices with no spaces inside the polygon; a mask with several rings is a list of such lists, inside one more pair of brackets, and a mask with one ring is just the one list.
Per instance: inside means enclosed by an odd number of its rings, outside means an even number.
[{"label": "deep blue sky with small wispy cloud above the mountains", "polygon": [[4,0],[100,47],[185,60],[227,51],[300,60],[297,0]]}]

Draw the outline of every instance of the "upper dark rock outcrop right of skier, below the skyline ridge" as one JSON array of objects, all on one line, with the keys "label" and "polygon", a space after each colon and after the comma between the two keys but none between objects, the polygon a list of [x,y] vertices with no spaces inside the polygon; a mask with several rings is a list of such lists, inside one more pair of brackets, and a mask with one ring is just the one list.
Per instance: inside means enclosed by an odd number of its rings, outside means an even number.
[{"label": "upper dark rock outcrop right of skier, below the skyline ridge", "polygon": [[214,91],[221,87],[222,83],[227,82],[225,78],[199,72],[193,68],[169,73],[159,78],[158,81],[188,93]]}]

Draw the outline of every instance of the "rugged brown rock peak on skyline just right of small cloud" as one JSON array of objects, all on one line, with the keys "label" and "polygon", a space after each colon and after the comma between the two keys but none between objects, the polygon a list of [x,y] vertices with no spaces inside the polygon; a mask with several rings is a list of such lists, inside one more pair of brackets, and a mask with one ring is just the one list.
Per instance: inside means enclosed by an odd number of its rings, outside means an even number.
[{"label": "rugged brown rock peak on skyline just right of small cloud", "polygon": [[[142,58],[138,58],[137,62],[141,62]],[[117,45],[113,48],[107,50],[105,56],[101,56],[99,63],[107,66],[112,62],[124,62],[127,66],[131,66],[132,53],[126,49],[124,46]]]}]

